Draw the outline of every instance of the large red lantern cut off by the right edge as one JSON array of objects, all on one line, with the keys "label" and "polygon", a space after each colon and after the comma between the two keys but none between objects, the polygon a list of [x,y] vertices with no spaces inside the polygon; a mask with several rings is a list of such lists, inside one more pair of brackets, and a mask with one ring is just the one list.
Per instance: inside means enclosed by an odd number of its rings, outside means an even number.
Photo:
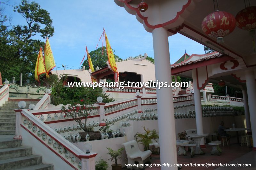
[{"label": "large red lantern cut off by the right edge", "polygon": [[256,6],[247,7],[236,14],[236,26],[254,35],[256,28]]}]

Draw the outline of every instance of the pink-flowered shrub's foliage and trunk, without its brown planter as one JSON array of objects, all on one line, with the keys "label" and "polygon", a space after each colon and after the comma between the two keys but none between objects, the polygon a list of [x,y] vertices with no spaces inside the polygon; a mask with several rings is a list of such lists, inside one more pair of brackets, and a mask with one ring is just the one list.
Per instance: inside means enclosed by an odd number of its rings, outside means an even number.
[{"label": "pink-flowered shrub's foliage and trunk, without its brown planter", "polygon": [[[79,104],[80,105],[77,105],[77,103],[72,103],[68,105],[68,108],[66,108],[65,106],[62,106],[61,110],[62,110],[62,113],[65,113],[67,117],[72,117],[80,125],[81,129],[87,132],[88,131],[86,127],[87,117],[91,115],[95,107],[93,107],[93,104],[89,104],[89,102],[87,101],[84,102],[83,100],[81,100]],[[82,122],[83,119],[84,119],[84,123]]]}]

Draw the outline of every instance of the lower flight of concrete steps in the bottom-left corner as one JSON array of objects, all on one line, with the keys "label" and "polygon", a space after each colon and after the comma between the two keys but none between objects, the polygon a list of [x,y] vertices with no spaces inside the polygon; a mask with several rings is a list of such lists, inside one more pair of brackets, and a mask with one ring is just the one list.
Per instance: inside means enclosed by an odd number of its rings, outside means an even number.
[{"label": "lower flight of concrete steps in the bottom-left corner", "polygon": [[53,170],[53,165],[43,164],[42,157],[32,154],[31,147],[21,146],[13,135],[0,136],[0,169]]}]

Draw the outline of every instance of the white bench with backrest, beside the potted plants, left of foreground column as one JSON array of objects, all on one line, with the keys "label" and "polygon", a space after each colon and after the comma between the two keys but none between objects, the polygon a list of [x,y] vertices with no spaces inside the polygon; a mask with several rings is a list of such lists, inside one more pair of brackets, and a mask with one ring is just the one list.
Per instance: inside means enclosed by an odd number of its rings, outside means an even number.
[{"label": "white bench with backrest, beside the potted plants, left of foreground column", "polygon": [[[128,164],[144,164],[144,161],[149,159],[150,155],[152,154],[151,151],[140,151],[138,143],[135,140],[125,142],[124,145],[125,152],[127,154]],[[133,168],[132,166],[127,166],[127,168]],[[136,168],[144,168],[144,167],[137,167]]]}]

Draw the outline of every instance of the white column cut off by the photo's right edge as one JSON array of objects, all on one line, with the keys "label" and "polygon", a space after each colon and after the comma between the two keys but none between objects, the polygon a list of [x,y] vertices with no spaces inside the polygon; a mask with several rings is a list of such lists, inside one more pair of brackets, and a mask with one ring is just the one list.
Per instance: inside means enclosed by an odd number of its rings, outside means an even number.
[{"label": "white column cut off by the photo's right edge", "polygon": [[256,82],[253,70],[245,71],[246,78],[246,88],[248,95],[248,104],[249,104],[249,112],[250,112],[250,120],[251,120],[251,130],[252,130],[252,140],[253,140],[253,150],[256,150]]}]

